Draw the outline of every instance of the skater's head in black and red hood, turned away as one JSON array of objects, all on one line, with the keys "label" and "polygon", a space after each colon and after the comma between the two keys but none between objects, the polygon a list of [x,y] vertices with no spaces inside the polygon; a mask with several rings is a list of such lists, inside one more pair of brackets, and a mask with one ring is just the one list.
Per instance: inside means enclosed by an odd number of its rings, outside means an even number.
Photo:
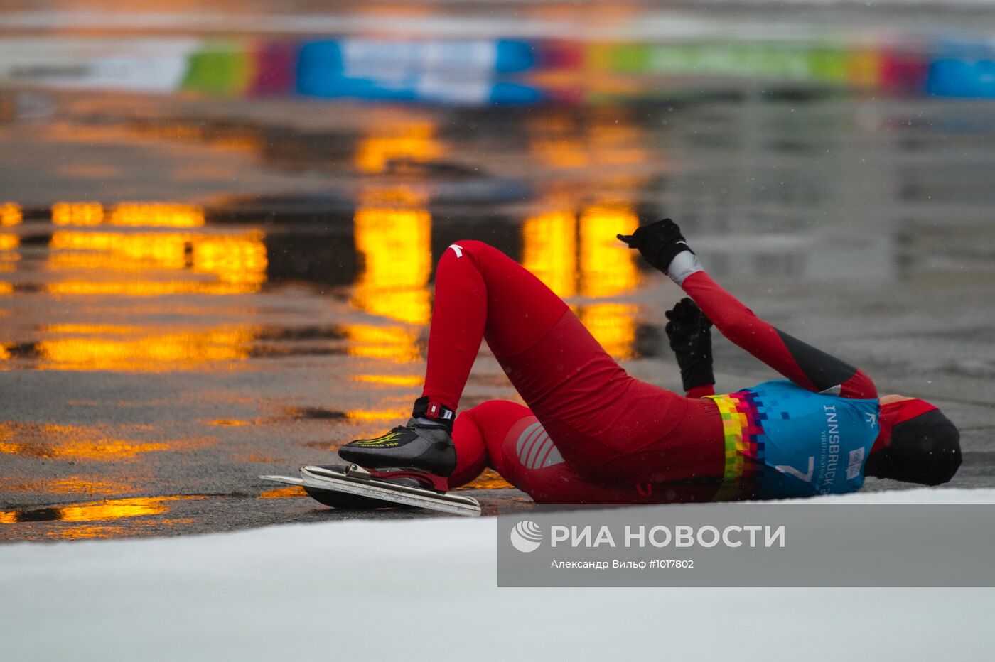
[{"label": "skater's head in black and red hood, turned away", "polygon": [[881,432],[866,473],[910,483],[939,485],[960,466],[960,432],[935,406],[916,398],[881,399]]}]

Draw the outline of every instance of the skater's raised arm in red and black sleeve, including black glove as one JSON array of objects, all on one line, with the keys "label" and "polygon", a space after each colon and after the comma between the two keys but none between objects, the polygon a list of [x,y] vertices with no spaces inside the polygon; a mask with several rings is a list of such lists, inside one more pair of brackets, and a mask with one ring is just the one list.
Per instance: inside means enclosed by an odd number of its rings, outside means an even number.
[{"label": "skater's raised arm in red and black sleeve, including black glove", "polygon": [[704,272],[673,221],[619,239],[638,248],[680,285],[723,336],[798,386],[845,398],[878,397],[874,382],[863,371],[774,328],[722,289]]}]

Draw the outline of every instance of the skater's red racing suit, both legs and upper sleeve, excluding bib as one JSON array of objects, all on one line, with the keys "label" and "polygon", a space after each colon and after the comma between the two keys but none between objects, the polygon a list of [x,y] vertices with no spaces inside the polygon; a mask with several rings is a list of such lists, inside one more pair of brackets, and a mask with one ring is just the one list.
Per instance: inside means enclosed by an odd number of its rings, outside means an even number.
[{"label": "skater's red racing suit, both legs and upper sleeve, excluding bib", "polygon": [[[759,319],[704,271],[682,286],[724,336],[798,386],[877,397],[862,371]],[[719,409],[701,398],[711,388],[687,397],[629,376],[532,273],[497,248],[458,242],[436,272],[423,396],[456,410],[482,339],[527,408],[492,401],[459,415],[451,486],[490,465],[538,503],[718,494],[727,457]]]}]

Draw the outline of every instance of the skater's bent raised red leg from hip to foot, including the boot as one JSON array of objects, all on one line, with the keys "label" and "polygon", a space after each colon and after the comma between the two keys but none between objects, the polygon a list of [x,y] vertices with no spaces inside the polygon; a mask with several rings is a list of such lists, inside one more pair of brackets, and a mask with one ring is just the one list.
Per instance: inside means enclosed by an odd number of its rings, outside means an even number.
[{"label": "skater's bent raised red leg from hip to foot, including the boot", "polygon": [[[438,403],[452,414],[483,334],[578,473],[630,484],[721,477],[724,446],[714,405],[627,375],[559,297],[496,248],[469,241],[447,248],[436,297],[423,408]],[[432,456],[438,468],[426,470],[451,476],[458,460],[452,441],[447,460],[442,443],[419,427],[424,414],[418,412],[416,405],[407,427],[354,441],[339,454],[363,466],[413,468],[426,467],[423,459]]]}]

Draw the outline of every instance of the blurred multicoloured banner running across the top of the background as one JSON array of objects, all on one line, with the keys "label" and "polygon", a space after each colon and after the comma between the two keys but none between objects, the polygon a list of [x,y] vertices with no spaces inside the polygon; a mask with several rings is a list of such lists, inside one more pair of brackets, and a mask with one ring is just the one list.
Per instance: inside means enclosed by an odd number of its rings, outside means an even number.
[{"label": "blurred multicoloured banner running across the top of the background", "polygon": [[694,79],[995,97],[995,49],[937,40],[600,43],[571,40],[16,37],[0,85],[223,97],[300,95],[451,105],[613,102]]}]

